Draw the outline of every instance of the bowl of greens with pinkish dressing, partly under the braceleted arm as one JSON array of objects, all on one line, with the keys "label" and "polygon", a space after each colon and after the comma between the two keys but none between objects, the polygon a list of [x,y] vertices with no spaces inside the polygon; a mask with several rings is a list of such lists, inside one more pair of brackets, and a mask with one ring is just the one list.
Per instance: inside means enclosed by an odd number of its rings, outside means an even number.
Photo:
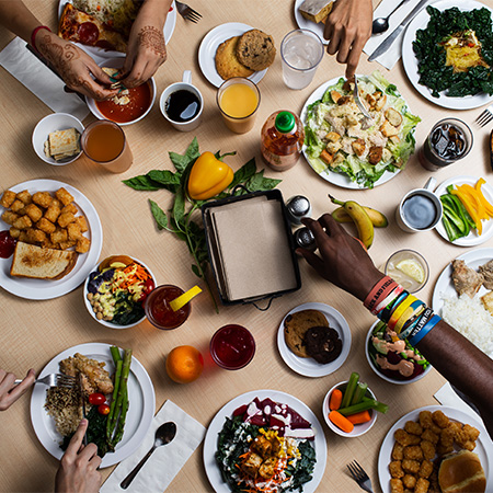
[{"label": "bowl of greens with pinkish dressing, partly under the braceleted arm", "polygon": [[392,341],[392,332],[380,320],[368,331],[365,354],[370,368],[390,383],[412,383],[432,369],[432,365],[408,341]]}]

